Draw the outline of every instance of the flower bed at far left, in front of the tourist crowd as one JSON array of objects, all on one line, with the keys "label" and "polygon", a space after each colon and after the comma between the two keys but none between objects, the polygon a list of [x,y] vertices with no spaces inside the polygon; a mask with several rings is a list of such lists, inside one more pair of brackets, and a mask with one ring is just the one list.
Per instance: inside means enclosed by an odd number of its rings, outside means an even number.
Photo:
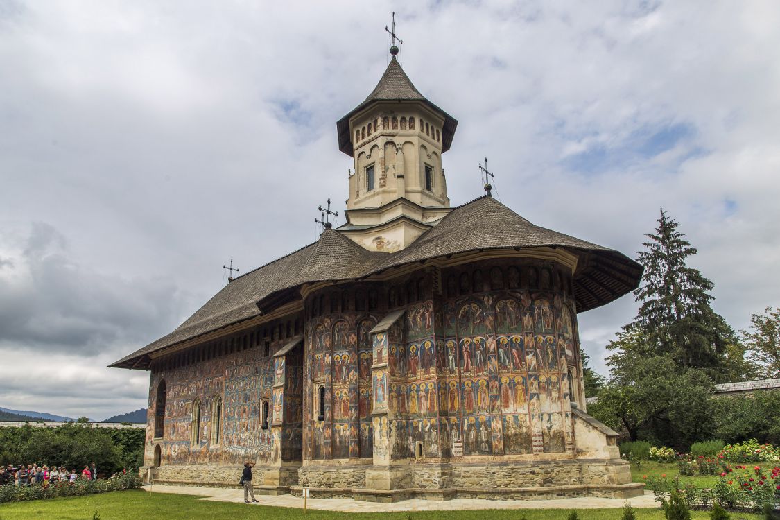
[{"label": "flower bed at far left, in front of the tourist crowd", "polygon": [[77,497],[107,491],[134,490],[141,486],[138,476],[115,475],[110,479],[83,480],[31,484],[30,486],[0,486],[0,504],[4,502],[35,501],[55,497]]}]

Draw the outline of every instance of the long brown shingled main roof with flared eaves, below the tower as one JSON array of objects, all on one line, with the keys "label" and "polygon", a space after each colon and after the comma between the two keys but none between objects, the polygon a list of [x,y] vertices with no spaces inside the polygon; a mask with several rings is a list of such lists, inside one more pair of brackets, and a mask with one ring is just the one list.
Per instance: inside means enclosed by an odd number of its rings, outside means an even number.
[{"label": "long brown shingled main roof with flared eaves, below the tower", "polygon": [[406,249],[378,253],[363,249],[341,232],[243,274],[226,285],[176,331],[111,366],[133,368],[163,348],[260,315],[258,303],[315,281],[365,278],[386,269],[480,249],[561,247],[578,256],[574,274],[577,311],[594,309],[633,291],[642,267],[613,249],[541,228],[490,196],[456,207]]}]

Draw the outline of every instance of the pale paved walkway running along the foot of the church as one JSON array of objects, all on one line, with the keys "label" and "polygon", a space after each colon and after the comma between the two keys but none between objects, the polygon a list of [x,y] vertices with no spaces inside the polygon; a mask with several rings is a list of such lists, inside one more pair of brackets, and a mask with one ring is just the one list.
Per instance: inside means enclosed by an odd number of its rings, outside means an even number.
[{"label": "pale paved walkway running along the foot of the church", "polygon": [[[144,486],[152,493],[179,493],[197,495],[200,500],[218,502],[239,502],[243,504],[243,490],[220,487],[165,486],[154,484]],[[303,508],[303,498],[292,495],[257,495],[261,505],[278,508]],[[629,498],[629,504],[635,508],[658,508],[653,495],[645,491],[644,496]],[[358,502],[351,498],[309,498],[307,508],[324,511],[344,511],[347,513],[380,513],[393,511],[461,511],[478,509],[599,509],[622,508],[626,501],[617,498],[562,498],[544,501],[488,501],[481,499],[458,498],[452,501],[410,500],[381,504],[378,502]],[[250,506],[247,506],[250,507]]]}]

